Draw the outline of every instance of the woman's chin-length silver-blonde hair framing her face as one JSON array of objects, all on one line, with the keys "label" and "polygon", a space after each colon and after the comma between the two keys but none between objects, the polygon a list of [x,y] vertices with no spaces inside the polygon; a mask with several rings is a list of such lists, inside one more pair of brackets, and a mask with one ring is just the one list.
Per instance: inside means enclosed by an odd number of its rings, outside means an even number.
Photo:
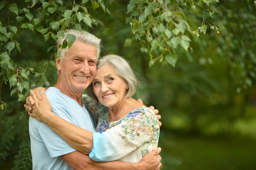
[{"label": "woman's chin-length silver-blonde hair framing her face", "polygon": [[[105,65],[112,66],[117,75],[119,75],[124,80],[124,82],[128,84],[129,88],[126,91],[125,97],[132,97],[136,92],[138,82],[127,60],[125,60],[123,57],[119,55],[106,55],[98,60],[97,69]],[[94,99],[96,102],[99,102],[99,100],[93,92],[92,84],[88,86],[87,94],[90,97],[92,97],[92,99]]]}]

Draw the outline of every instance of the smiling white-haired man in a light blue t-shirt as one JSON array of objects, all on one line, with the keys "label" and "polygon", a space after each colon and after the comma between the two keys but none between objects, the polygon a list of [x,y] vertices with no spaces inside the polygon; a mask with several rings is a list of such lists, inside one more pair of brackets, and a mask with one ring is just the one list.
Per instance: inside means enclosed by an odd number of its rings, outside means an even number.
[{"label": "smiling white-haired man in a light blue t-shirt", "polygon": [[[76,40],[70,49],[61,48],[66,35]],[[101,40],[88,32],[66,30],[57,41],[60,57],[56,60],[58,80],[46,91],[52,112],[81,128],[94,132],[88,110],[81,102],[83,91],[91,84],[96,73]],[[25,105],[31,111],[29,106]],[[32,165],[34,170],[158,170],[160,150],[148,153],[139,163],[121,161],[95,162],[68,145],[49,126],[29,118]]]}]

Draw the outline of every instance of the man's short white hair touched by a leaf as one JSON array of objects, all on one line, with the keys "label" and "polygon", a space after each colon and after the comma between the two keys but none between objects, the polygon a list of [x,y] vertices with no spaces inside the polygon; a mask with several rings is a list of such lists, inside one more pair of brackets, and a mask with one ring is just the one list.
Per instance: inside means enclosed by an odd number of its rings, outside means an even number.
[{"label": "man's short white hair touched by a leaf", "polygon": [[61,37],[59,37],[57,40],[57,48],[58,48],[58,53],[60,53],[59,59],[61,60],[61,62],[65,58],[65,53],[67,51],[69,51],[68,46],[65,49],[61,48],[64,40],[67,39],[66,38],[67,34],[74,35],[76,37],[76,40],[94,45],[97,48],[97,59],[99,59],[99,54],[101,53],[101,39],[100,38],[97,38],[95,35],[88,33],[86,31],[67,29],[67,30],[65,30],[64,34]]}]

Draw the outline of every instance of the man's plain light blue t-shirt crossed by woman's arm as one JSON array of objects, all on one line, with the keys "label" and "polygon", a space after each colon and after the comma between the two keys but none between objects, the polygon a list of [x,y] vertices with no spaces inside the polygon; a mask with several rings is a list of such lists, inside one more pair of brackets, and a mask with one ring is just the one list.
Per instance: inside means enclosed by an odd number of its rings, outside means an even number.
[{"label": "man's plain light blue t-shirt crossed by woman's arm", "polygon": [[[84,105],[81,107],[74,99],[54,87],[48,88],[45,93],[53,113],[76,126],[95,132]],[[60,156],[74,152],[75,149],[49,126],[29,117],[29,135],[33,170],[72,170]]]}]

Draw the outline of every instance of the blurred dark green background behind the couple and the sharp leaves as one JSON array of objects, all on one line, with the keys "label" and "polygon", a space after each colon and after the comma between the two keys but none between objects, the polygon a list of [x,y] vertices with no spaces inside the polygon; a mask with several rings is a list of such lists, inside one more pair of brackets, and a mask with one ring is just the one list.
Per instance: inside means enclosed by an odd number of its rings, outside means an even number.
[{"label": "blurred dark green background behind the couple and the sharp leaves", "polygon": [[[18,3],[18,1],[16,1]],[[85,28],[103,42],[101,55],[125,57],[134,69],[139,87],[134,98],[153,105],[162,116],[159,146],[162,170],[256,170],[256,7],[253,1],[230,0],[214,4],[222,13],[211,22],[205,35],[190,35],[193,52],[177,49],[175,67],[155,63],[149,67],[148,54],[132,40],[130,26],[124,26],[127,1],[108,6],[111,15],[94,13],[103,23]],[[184,7],[189,24],[197,29],[202,11]],[[4,13],[0,13],[3,18]],[[122,24],[120,24],[122,23]],[[53,40],[40,33],[22,31],[16,38],[22,53],[12,54],[21,67],[45,73],[47,84],[56,82]],[[132,40],[129,44],[127,41]],[[49,62],[50,61],[50,62]],[[31,75],[31,80],[35,79]],[[30,85],[31,88],[34,84]],[[20,120],[25,102],[10,95],[1,84],[0,110],[1,170],[31,169],[28,116]]]}]

